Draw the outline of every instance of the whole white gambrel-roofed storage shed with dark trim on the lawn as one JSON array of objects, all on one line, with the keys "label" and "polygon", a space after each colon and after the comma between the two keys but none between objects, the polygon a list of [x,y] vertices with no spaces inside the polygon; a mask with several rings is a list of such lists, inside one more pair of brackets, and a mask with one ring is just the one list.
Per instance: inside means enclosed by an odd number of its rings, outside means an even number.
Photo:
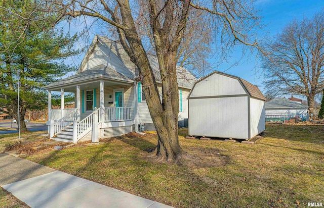
[{"label": "whole white gambrel-roofed storage shed with dark trim on the lawn", "polygon": [[189,135],[250,139],[265,130],[265,100],[256,85],[215,71],[189,93]]}]

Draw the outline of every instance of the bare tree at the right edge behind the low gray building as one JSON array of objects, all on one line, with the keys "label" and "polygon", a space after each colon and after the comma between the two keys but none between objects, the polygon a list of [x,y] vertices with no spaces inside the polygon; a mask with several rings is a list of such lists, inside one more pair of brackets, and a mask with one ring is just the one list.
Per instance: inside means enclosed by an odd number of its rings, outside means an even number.
[{"label": "bare tree at the right edge behind the low gray building", "polygon": [[324,11],[293,20],[264,50],[268,93],[304,95],[313,113],[314,97],[324,87]]}]

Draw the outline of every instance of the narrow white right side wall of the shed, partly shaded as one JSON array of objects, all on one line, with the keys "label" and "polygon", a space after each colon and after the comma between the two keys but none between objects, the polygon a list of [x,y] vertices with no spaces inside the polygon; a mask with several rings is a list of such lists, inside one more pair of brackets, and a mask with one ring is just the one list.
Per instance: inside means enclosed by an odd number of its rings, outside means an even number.
[{"label": "narrow white right side wall of the shed, partly shaded", "polygon": [[265,130],[265,102],[250,97],[250,138]]}]

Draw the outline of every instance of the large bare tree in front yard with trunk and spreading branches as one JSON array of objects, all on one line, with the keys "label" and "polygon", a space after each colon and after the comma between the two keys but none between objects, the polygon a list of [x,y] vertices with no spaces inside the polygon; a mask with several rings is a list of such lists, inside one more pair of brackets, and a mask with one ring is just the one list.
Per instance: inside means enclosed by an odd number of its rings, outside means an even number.
[{"label": "large bare tree in front yard with trunk and spreading branches", "polygon": [[[46,0],[40,6],[42,11],[58,13],[58,21],[88,16],[115,28],[119,41],[139,70],[148,109],[158,135],[155,152],[157,160],[178,162],[184,154],[178,140],[176,64],[179,56],[184,54],[179,53],[179,50],[185,51],[181,47],[182,40],[194,39],[195,24],[204,24],[208,30],[220,34],[217,41],[225,46],[239,43],[257,47],[252,31],[258,27],[259,18],[252,2],[247,0]],[[198,18],[197,11],[201,21],[191,24],[191,20]],[[145,21],[139,21],[141,19]],[[188,25],[193,30],[188,30]],[[146,28],[148,34],[140,32],[143,28]],[[190,34],[186,33],[188,31]],[[162,101],[148,61],[145,47],[149,44],[147,41],[153,45],[158,59]]]}]

